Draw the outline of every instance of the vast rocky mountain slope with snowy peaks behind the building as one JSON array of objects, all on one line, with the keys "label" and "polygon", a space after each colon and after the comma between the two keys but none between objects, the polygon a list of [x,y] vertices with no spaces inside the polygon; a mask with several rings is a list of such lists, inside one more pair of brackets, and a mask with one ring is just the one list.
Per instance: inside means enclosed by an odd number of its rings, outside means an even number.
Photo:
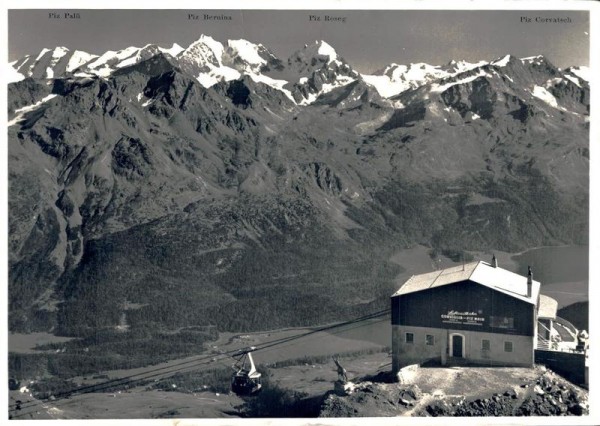
[{"label": "vast rocky mountain slope with snowy peaks behind the building", "polygon": [[325,42],[12,67],[12,330],[323,323],[386,307],[415,243],[587,238],[589,85],[543,57],[395,67],[394,90]]}]

